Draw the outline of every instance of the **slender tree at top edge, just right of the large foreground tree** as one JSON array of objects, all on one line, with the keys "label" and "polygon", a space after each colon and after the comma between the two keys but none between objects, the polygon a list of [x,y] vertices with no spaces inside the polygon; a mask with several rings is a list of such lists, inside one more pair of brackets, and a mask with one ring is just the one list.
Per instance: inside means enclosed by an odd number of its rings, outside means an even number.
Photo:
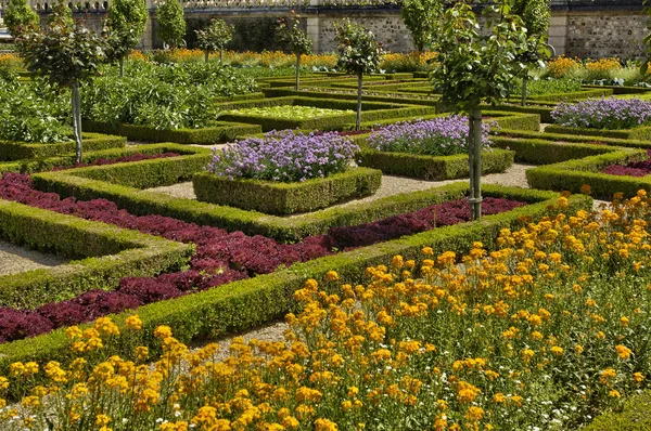
[{"label": "slender tree at top edge, just right of the large foreground tree", "polygon": [[522,106],[525,106],[529,67],[544,66],[542,60],[549,57],[546,44],[551,10],[549,0],[514,0],[511,13],[520,16],[528,36],[526,49],[518,56],[527,66],[522,71]]}]

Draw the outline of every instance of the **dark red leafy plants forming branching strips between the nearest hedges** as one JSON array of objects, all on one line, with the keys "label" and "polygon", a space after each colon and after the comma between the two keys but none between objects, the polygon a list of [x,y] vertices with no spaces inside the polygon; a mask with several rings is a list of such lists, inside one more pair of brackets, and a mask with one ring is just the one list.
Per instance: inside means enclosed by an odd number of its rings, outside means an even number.
[{"label": "dark red leafy plants forming branching strips between the nearest hedges", "polygon": [[[105,199],[61,199],[58,194],[34,190],[29,177],[17,173],[5,173],[2,177],[0,198],[196,245],[196,254],[187,271],[157,277],[123,278],[113,291],[92,290],[33,311],[0,308],[0,342],[34,337],[146,303],[177,298],[256,274],[268,274],[280,265],[289,266],[294,262],[331,254],[334,248],[367,246],[435,226],[463,223],[470,218],[465,199],[450,200],[374,223],[332,228],[327,235],[307,237],[302,243],[286,245],[260,235],[228,233],[221,228],[200,226],[168,217],[132,216]],[[484,214],[492,214],[523,205],[525,204],[501,198],[486,198],[482,209]]]}]

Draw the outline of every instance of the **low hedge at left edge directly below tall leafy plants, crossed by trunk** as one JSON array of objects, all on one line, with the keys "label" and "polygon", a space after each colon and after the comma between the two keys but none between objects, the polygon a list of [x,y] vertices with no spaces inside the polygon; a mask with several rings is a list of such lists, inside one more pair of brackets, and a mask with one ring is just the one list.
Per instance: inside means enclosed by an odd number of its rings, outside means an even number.
[{"label": "low hedge at left edge directly below tall leafy plants, crossed by trunk", "polygon": [[[87,152],[120,148],[127,145],[122,136],[100,133],[84,133],[84,149]],[[75,153],[75,141],[56,144],[35,144],[29,142],[0,141],[0,161],[13,161],[27,158],[53,157]]]}]

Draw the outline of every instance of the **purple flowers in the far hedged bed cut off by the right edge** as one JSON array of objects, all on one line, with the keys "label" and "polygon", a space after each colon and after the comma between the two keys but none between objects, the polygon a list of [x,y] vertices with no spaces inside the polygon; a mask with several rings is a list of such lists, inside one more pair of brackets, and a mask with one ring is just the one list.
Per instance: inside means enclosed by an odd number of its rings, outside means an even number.
[{"label": "purple flowers in the far hedged bed cut off by the right edge", "polygon": [[557,125],[593,129],[630,129],[651,125],[651,102],[639,99],[589,99],[562,103],[551,112]]}]

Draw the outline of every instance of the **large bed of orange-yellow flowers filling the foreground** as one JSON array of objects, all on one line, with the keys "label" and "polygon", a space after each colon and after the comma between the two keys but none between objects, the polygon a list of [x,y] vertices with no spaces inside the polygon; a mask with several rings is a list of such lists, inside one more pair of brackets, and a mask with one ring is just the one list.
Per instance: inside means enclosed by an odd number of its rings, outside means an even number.
[{"label": "large bed of orange-yellow flowers filling the foreground", "polygon": [[366,285],[339,285],[334,271],[323,289],[310,279],[284,342],[235,339],[221,362],[216,344],[192,351],[161,326],[159,357],[135,348],[91,367],[117,327],[69,328],[72,366],[17,363],[0,378],[4,391],[48,378],[20,408],[2,401],[0,428],[43,429],[46,417],[102,431],[576,428],[648,380],[651,199],[566,205],[502,230],[495,251],[424,248],[421,264],[369,267]]}]

